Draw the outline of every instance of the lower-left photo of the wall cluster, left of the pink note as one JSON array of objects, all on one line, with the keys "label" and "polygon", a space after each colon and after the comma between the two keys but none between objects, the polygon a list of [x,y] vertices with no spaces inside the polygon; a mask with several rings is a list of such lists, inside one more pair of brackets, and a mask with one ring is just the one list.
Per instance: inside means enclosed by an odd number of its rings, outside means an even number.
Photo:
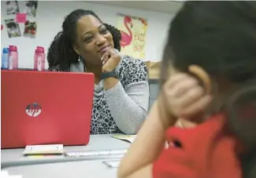
[{"label": "lower-left photo of the wall cluster, left of the pink note", "polygon": [[15,19],[6,19],[6,28],[9,38],[20,37],[20,25]]}]

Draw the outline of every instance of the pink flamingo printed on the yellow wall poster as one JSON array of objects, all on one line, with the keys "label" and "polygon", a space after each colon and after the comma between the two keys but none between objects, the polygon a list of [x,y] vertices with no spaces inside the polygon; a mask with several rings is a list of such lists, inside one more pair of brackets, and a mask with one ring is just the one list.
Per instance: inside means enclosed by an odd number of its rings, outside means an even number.
[{"label": "pink flamingo printed on the yellow wall poster", "polygon": [[131,16],[124,16],[124,27],[126,27],[126,29],[128,30],[128,34],[124,31],[120,31],[121,32],[121,48],[124,49],[124,47],[126,45],[130,45],[132,42],[132,31],[131,28],[128,26],[128,24],[130,25],[130,27],[132,27],[132,18]]}]

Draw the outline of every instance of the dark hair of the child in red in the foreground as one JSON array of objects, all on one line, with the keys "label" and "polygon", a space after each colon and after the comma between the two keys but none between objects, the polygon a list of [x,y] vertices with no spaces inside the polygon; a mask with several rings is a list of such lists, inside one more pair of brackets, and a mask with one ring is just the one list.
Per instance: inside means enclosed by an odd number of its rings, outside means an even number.
[{"label": "dark hair of the child in red in the foreground", "polygon": [[[221,77],[242,86],[230,96],[228,122],[248,148],[247,156],[241,158],[243,177],[256,177],[256,149],[252,149],[256,148],[256,128],[254,136],[241,134],[251,127],[243,116],[234,117],[238,105],[240,108],[256,100],[256,2],[185,2],[169,29],[162,82],[169,75],[170,65],[187,72],[191,64],[205,69],[213,79]],[[256,114],[252,123],[256,126]]]}]

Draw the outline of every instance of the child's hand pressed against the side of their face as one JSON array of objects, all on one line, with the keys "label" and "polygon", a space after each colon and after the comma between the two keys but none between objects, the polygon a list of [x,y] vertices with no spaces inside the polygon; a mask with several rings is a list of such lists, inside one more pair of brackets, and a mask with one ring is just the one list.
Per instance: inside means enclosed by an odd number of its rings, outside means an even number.
[{"label": "child's hand pressed against the side of their face", "polygon": [[189,74],[174,74],[163,87],[169,110],[176,118],[192,119],[210,104],[212,97],[206,95],[205,89],[196,78]]}]

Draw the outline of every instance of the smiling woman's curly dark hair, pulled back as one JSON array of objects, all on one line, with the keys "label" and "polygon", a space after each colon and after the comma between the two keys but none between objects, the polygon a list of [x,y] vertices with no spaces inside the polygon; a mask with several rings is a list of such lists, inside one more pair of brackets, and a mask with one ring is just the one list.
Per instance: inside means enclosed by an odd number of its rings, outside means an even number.
[{"label": "smiling woman's curly dark hair, pulled back", "polygon": [[[72,48],[72,44],[76,39],[76,23],[78,20],[80,20],[81,17],[87,15],[95,16],[100,22],[102,22],[102,20],[100,20],[99,17],[91,10],[76,9],[65,17],[65,20],[62,24],[62,31],[60,31],[58,35],[55,36],[54,41],[51,42],[50,48],[48,49],[47,60],[49,67],[55,67],[59,65],[61,70],[65,71],[69,69],[70,64],[78,62],[79,56]],[[113,36],[114,48],[120,51],[120,31],[118,31],[117,28],[110,24],[104,25]]]}]

